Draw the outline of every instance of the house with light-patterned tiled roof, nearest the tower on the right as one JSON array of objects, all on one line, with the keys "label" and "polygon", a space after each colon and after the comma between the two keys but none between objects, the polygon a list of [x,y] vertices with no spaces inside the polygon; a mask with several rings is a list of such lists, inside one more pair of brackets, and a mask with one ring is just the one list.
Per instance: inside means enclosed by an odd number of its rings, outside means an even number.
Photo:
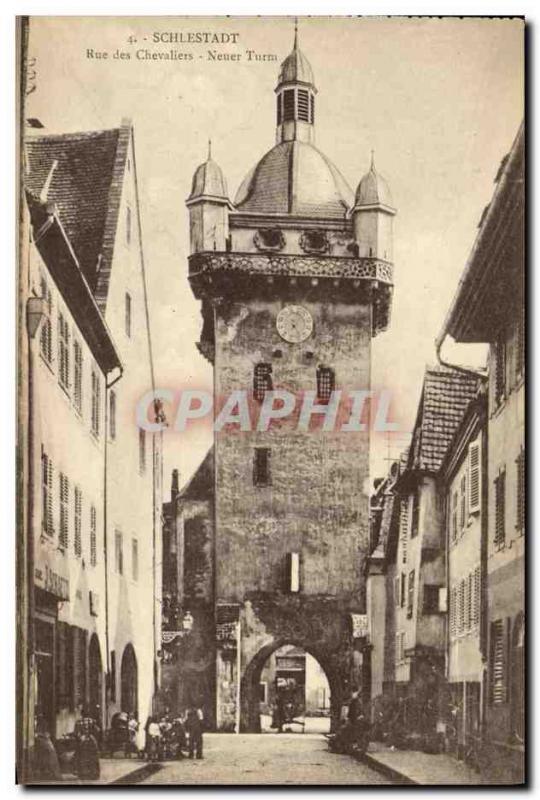
[{"label": "house with light-patterned tiled roof, nearest the tower on the right", "polygon": [[426,746],[444,718],[446,677],[448,577],[439,476],[478,380],[445,367],[426,370],[410,447],[373,498],[372,696],[382,689],[399,709],[396,730],[424,737]]}]

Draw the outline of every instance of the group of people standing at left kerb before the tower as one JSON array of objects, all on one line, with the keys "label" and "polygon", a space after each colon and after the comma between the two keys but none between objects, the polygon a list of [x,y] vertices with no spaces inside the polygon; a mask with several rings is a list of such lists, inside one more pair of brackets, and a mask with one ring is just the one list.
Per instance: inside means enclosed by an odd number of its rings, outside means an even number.
[{"label": "group of people standing at left kerb before the tower", "polygon": [[178,717],[165,713],[160,719],[149,717],[145,727],[145,752],[150,761],[166,758],[203,757],[203,712],[196,705],[189,706]]}]

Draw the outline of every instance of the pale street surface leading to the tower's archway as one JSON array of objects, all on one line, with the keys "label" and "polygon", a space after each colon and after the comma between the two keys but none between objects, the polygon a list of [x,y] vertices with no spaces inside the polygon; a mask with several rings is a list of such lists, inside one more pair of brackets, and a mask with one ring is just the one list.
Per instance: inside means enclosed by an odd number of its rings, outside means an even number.
[{"label": "pale street surface leading to the tower's archway", "polygon": [[202,761],[174,761],[144,784],[390,784],[316,734],[206,734]]}]

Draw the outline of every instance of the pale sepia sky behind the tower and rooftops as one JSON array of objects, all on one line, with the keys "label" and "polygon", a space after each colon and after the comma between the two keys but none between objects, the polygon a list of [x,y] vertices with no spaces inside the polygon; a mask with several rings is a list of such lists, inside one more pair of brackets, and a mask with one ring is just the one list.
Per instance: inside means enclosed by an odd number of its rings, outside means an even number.
[{"label": "pale sepia sky behind the tower and rooftops", "polygon": [[[238,35],[229,37],[235,43],[216,45],[153,42],[154,33],[170,32]],[[299,37],[318,89],[317,147],[353,190],[373,149],[398,212],[392,318],[373,341],[372,383],[391,391],[401,430],[373,441],[374,478],[414,425],[425,367],[436,363],[434,340],[523,117],[523,24],[300,17]],[[274,88],[292,38],[291,17],[31,20],[36,91],[28,116],[38,117],[47,133],[133,121],[159,387],[212,386],[211,367],[195,346],[201,316],[187,281],[185,200],[209,138],[232,199],[274,145]],[[136,58],[139,50],[171,49],[191,53],[192,60]],[[131,58],[114,58],[117,50]],[[209,50],[241,59],[212,60]],[[248,50],[277,60],[248,60]],[[96,57],[105,51],[107,59]],[[450,343],[445,356],[481,366],[484,354]],[[174,467],[183,484],[211,444],[209,430],[193,427],[164,438],[166,487]]]}]

